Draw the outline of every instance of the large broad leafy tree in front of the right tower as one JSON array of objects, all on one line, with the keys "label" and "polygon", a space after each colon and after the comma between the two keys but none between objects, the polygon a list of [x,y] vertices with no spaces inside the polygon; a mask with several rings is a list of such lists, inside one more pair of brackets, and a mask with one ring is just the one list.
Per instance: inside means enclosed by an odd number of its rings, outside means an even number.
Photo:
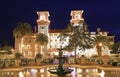
[{"label": "large broad leafy tree in front of the right tower", "polygon": [[[78,25],[69,24],[68,29],[60,35],[60,38],[64,40],[64,38],[69,37],[69,44],[65,46],[65,49],[72,49],[75,51],[75,61],[76,61],[76,49],[80,48],[80,50],[90,49],[93,47],[93,38],[90,35],[90,32],[85,31],[84,27],[86,24],[81,24],[81,21]],[[68,31],[68,32],[67,32]]]}]

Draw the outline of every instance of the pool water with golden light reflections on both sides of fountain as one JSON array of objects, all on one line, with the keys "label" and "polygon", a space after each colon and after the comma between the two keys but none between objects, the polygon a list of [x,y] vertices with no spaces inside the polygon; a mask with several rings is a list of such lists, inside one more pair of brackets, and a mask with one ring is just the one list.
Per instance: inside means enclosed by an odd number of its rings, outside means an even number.
[{"label": "pool water with golden light reflections on both sides of fountain", "polygon": [[[23,69],[19,71],[0,71],[0,77],[59,77],[57,75],[50,74],[47,70],[55,68],[36,68],[36,69]],[[71,74],[67,74],[64,77],[120,77],[120,70],[100,70],[96,68],[80,69],[73,68],[74,71]],[[63,77],[63,76],[62,76]]]}]

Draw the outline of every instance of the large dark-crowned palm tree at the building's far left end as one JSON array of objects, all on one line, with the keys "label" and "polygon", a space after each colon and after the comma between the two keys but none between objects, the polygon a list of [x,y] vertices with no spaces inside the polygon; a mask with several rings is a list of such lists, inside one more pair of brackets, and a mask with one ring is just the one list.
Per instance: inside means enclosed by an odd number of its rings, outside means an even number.
[{"label": "large dark-crowned palm tree at the building's far left end", "polygon": [[22,38],[26,35],[32,35],[31,25],[29,23],[18,22],[17,27],[13,30],[13,36],[15,37],[15,50],[19,51],[19,44],[22,44]]}]

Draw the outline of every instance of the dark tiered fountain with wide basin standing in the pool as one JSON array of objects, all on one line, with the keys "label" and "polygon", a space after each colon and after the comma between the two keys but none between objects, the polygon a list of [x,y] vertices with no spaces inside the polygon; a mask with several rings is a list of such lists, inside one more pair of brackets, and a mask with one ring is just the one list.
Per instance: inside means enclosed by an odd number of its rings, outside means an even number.
[{"label": "dark tiered fountain with wide basin standing in the pool", "polygon": [[56,74],[58,76],[62,76],[63,77],[64,75],[71,73],[73,70],[72,69],[68,69],[68,68],[66,68],[66,69],[63,68],[63,61],[62,61],[62,59],[64,57],[62,57],[62,48],[60,48],[58,50],[59,50],[59,57],[58,57],[59,64],[58,64],[58,68],[56,68],[56,69],[49,69],[48,71],[51,74]]}]

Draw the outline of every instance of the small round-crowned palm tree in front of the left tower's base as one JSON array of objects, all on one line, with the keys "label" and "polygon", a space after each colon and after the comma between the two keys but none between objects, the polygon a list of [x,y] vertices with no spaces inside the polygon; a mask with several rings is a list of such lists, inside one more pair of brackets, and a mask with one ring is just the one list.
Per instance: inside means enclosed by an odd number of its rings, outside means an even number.
[{"label": "small round-crowned palm tree in front of the left tower's base", "polygon": [[38,53],[41,53],[41,46],[48,43],[48,37],[43,33],[39,33],[35,41],[38,43]]}]

